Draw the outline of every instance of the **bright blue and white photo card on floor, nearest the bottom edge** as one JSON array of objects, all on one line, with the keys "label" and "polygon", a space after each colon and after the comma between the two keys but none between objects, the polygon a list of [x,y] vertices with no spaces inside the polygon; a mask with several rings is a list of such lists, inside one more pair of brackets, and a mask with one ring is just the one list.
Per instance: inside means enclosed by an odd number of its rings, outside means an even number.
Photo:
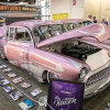
[{"label": "bright blue and white photo card on floor, nearest the bottom edge", "polygon": [[25,99],[20,102],[19,106],[22,108],[22,110],[30,110],[34,107],[34,103],[30,99]]}]

